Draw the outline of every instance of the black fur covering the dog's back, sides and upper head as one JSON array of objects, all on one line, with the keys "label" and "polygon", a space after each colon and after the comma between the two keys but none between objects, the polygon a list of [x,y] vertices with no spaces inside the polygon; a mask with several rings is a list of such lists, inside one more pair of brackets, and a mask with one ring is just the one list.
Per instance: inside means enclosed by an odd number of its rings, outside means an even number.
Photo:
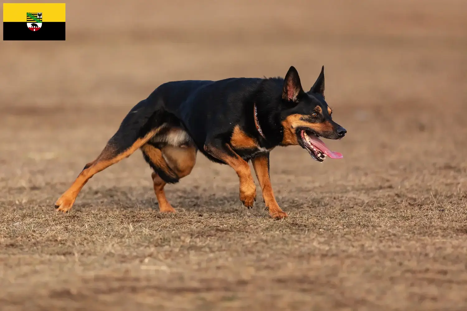
[{"label": "black fur covering the dog's back, sides and upper head", "polygon": [[[282,122],[292,114],[303,115],[303,120],[311,123],[327,121],[333,125],[333,131],[316,134],[331,139],[341,138],[343,135],[337,132],[345,130],[332,120],[325,102],[324,67],[308,92],[302,89],[294,67],[290,67],[286,79],[290,81],[274,77],[164,83],[131,109],[109,143],[116,147],[117,152],[123,152],[136,139],[165,124],[167,128],[176,126],[184,129],[208,159],[224,163],[214,157],[210,150],[215,148],[232,155],[226,145],[230,142],[234,127],[239,125],[259,143],[258,148],[233,149],[243,159],[249,160],[258,153],[268,153],[272,148],[282,145]],[[297,88],[296,98],[284,98],[287,85]],[[264,138],[255,126],[254,104]],[[322,114],[312,117],[311,113],[317,106],[321,107]],[[154,146],[158,147],[157,144]],[[145,159],[151,164],[146,155]],[[167,182],[178,181],[165,176],[157,167],[152,168]]]}]

